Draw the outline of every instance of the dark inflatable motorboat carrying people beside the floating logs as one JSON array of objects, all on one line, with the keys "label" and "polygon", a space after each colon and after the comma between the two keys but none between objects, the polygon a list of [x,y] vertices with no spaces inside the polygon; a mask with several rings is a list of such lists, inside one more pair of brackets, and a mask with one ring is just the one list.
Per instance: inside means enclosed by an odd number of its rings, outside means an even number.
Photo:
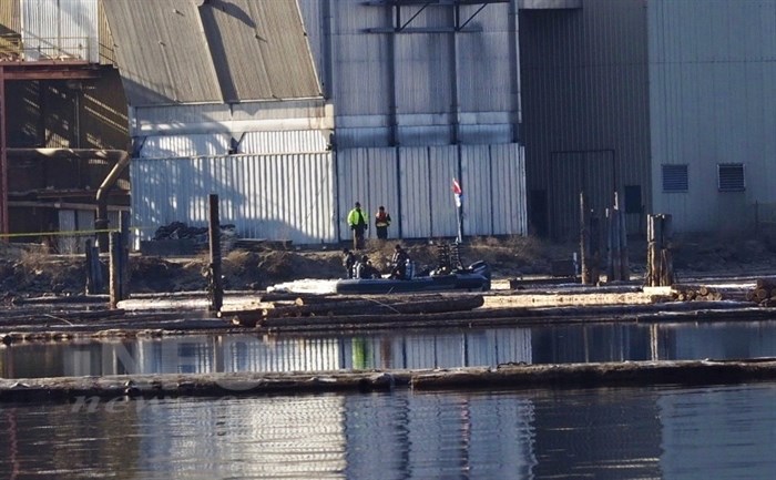
[{"label": "dark inflatable motorboat carrying people beside the floating logs", "polygon": [[348,278],[337,280],[338,294],[394,294],[413,292],[486,292],[490,289],[490,266],[477,262],[468,268],[431,273],[410,278]]}]

